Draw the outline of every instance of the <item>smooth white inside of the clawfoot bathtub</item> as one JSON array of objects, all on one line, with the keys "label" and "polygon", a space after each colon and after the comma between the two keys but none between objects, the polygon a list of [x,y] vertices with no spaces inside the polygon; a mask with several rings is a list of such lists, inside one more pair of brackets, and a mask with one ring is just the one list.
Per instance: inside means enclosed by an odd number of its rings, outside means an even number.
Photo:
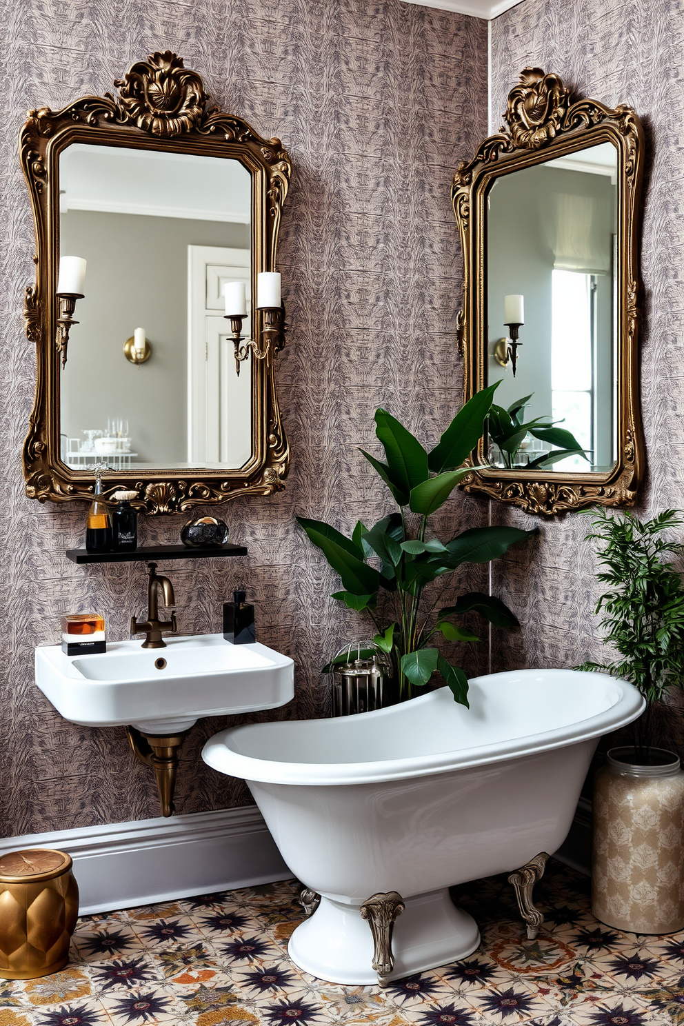
[{"label": "smooth white inside of the clawfoot bathtub", "polygon": [[358,716],[238,727],[230,748],[299,764],[407,759],[548,735],[606,712],[623,696],[621,682],[570,670],[497,673],[470,683],[470,709],[442,687]]}]

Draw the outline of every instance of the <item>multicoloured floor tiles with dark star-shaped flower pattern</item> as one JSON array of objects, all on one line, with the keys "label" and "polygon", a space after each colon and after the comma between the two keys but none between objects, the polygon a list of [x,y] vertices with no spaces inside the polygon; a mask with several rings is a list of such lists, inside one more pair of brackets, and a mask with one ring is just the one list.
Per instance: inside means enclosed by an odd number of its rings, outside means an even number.
[{"label": "multicoloured floor tiles with dark star-shaped flower pattern", "polygon": [[385,989],[290,962],[303,918],[291,880],[84,917],[62,973],[0,981],[0,1026],[684,1026],[684,933],[597,922],[587,879],[553,861],[535,941],[505,876],[453,895],[480,948]]}]

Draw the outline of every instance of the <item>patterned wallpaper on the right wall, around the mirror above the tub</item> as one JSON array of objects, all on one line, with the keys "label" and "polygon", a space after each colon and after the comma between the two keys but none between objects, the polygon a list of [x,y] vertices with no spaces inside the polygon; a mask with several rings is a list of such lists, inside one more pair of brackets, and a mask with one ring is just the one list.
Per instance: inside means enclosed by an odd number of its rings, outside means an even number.
[{"label": "patterned wallpaper on the right wall, around the mirror above the tub", "polygon": [[[684,19],[671,0],[524,0],[492,23],[492,129],[527,65],[560,74],[585,96],[629,104],[647,137],[642,244],[644,333],[641,391],[648,475],[637,507],[652,516],[684,507]],[[495,522],[533,518],[492,505]],[[512,555],[494,564],[495,594],[520,610],[525,630],[497,639],[494,670],[572,666],[606,658],[593,614],[596,562],[587,518],[540,522],[531,563]],[[662,743],[684,757],[681,716],[663,723]]]}]

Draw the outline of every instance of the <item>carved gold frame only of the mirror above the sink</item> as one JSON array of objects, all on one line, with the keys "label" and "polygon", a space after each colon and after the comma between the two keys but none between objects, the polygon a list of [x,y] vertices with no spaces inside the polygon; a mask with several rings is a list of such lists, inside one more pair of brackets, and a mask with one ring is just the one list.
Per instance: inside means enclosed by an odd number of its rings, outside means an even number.
[{"label": "carved gold frame only of the mirror above the sink", "polygon": [[[58,111],[29,112],[19,136],[36,231],[36,282],[26,289],[25,324],[36,344],[37,378],[24,444],[26,492],[40,502],[92,498],[94,478],[62,462],[59,453],[59,353],[55,345],[58,265],[58,158],[73,143],[192,153],[241,161],[252,177],[252,294],[256,274],[275,270],[281,211],[291,164],[278,139],[261,139],[241,118],[211,106],[201,77],[176,54],[150,54],[115,81],[118,100],[82,96]],[[154,260],[154,238],[144,260]],[[276,391],[275,356],[255,312],[254,341],[265,353],[252,358],[252,455],[237,470],[152,468],[111,471],[106,494],[136,489],[147,513],[175,513],[237,496],[267,496],[284,486],[289,450]]]}]

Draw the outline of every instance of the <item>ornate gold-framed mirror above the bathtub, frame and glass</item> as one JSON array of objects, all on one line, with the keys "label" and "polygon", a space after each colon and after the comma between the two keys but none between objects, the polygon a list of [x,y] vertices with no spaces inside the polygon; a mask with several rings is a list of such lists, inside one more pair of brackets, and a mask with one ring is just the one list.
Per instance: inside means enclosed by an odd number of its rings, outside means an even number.
[{"label": "ornate gold-framed mirror above the bathtub, frame and glass", "polygon": [[461,164],[466,399],[498,382],[469,491],[554,514],[632,505],[644,470],[638,232],[644,136],[527,68]]}]

